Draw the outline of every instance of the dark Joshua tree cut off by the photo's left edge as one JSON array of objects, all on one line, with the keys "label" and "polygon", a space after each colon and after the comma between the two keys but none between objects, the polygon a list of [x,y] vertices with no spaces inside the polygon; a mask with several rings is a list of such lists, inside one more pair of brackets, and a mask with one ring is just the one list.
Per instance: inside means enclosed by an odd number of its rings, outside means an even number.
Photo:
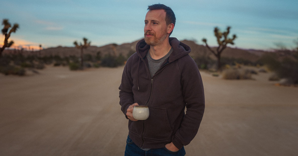
[{"label": "dark Joshua tree cut off by the photo's left edge", "polygon": [[4,25],[4,27],[2,29],[2,34],[5,36],[5,38],[4,38],[4,44],[3,44],[2,48],[0,49],[0,57],[1,57],[2,52],[5,49],[5,47],[10,47],[11,45],[13,45],[13,41],[8,42],[8,38],[10,37],[10,34],[12,32],[15,33],[15,31],[19,27],[19,25],[15,23],[15,24],[13,24],[13,27],[8,31],[8,29],[11,27],[10,23],[8,22],[8,19],[3,19],[2,25]]}]

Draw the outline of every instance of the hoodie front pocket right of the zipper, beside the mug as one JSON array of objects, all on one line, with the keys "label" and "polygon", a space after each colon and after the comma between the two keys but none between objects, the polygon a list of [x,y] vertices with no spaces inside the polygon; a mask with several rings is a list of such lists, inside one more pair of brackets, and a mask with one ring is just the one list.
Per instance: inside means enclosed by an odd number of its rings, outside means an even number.
[{"label": "hoodie front pocket right of the zipper, beside the mug", "polygon": [[144,120],[144,138],[153,140],[171,140],[172,129],[165,108],[149,106],[149,118]]}]

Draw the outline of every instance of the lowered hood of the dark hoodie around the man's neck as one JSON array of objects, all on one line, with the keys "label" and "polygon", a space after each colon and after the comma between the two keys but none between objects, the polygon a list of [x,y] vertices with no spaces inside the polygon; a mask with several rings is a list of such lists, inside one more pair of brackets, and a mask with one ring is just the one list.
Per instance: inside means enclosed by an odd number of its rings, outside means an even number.
[{"label": "lowered hood of the dark hoodie around the man's neck", "polygon": [[[170,45],[173,47],[173,52],[169,56],[169,63],[190,53],[190,47],[180,42],[177,38],[170,37],[169,42]],[[140,40],[136,44],[136,53],[139,55],[140,58],[145,58],[149,49],[150,45],[146,44],[144,39]]]}]

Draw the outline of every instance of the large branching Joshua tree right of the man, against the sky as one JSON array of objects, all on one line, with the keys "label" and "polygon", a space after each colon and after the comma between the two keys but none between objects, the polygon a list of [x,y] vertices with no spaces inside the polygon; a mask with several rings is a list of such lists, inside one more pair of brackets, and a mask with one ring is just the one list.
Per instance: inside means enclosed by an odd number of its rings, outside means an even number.
[{"label": "large branching Joshua tree right of the man, against the sky", "polygon": [[[214,54],[217,58],[217,69],[219,70],[221,68],[221,53],[223,52],[223,50],[226,48],[227,44],[234,44],[234,40],[236,38],[236,35],[233,35],[233,38],[228,38],[228,35],[230,33],[230,28],[231,27],[227,27],[225,32],[221,32],[218,27],[214,28],[214,35],[217,38],[217,43],[218,43],[218,47],[216,49],[216,52],[214,50],[212,50],[208,44],[207,44],[207,39],[203,38],[202,41],[205,42],[206,47],[212,52],[212,54]],[[222,40],[221,38],[224,37]]]}]

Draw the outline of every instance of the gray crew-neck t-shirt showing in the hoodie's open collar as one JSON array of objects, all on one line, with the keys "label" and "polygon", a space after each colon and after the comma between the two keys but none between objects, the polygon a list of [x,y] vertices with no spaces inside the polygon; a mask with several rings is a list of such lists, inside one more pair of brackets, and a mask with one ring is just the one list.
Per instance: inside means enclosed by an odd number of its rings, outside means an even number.
[{"label": "gray crew-neck t-shirt showing in the hoodie's open collar", "polygon": [[148,50],[147,58],[148,58],[148,66],[149,66],[151,78],[157,72],[157,70],[162,66],[162,63],[164,62],[164,60],[166,60],[172,52],[173,52],[173,47],[171,47],[171,49],[167,53],[167,55],[165,55],[162,58],[159,58],[158,60],[155,60],[155,59],[151,58],[149,50]]}]

